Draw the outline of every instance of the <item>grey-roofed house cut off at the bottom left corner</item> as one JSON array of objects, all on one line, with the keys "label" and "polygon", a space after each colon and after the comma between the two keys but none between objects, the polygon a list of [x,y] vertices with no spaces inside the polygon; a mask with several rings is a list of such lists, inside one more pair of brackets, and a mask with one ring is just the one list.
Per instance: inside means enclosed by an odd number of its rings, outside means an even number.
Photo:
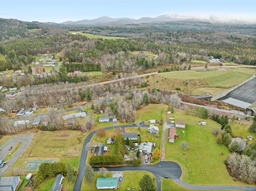
[{"label": "grey-roofed house cut off at the bottom left corner", "polygon": [[0,179],[0,191],[15,191],[18,188],[17,185],[20,182],[19,176],[13,177],[1,177]]}]

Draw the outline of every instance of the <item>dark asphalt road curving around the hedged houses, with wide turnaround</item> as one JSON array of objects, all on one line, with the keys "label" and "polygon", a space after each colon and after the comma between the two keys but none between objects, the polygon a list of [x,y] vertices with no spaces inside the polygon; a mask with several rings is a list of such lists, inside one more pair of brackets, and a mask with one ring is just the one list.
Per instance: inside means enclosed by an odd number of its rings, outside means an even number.
[{"label": "dark asphalt road curving around the hedged houses, with wide turnaround", "polygon": [[[125,128],[125,127],[135,127],[134,125],[117,125],[115,128]],[[141,124],[141,127],[148,127],[144,123]],[[113,126],[105,127],[104,129],[112,129]],[[84,177],[84,168],[85,168],[85,161],[87,158],[87,150],[85,150],[85,146],[87,143],[90,142],[92,136],[96,134],[97,130],[91,132],[86,139],[84,140],[84,145],[81,153],[80,163],[79,163],[79,170],[78,175],[76,178],[76,182],[74,184],[73,191],[80,191],[82,186],[82,179]],[[244,190],[244,191],[256,191],[256,187],[250,186],[198,186],[198,185],[191,185],[184,183],[180,176],[182,174],[180,165],[178,163],[172,161],[160,161],[154,165],[136,165],[136,166],[121,166],[121,167],[106,167],[109,171],[131,171],[131,170],[144,170],[150,171],[156,176],[156,183],[158,190],[161,190],[161,178],[166,177],[173,179],[179,185],[190,188],[190,189],[197,189],[197,190]],[[94,171],[99,171],[98,167],[94,167]]]}]

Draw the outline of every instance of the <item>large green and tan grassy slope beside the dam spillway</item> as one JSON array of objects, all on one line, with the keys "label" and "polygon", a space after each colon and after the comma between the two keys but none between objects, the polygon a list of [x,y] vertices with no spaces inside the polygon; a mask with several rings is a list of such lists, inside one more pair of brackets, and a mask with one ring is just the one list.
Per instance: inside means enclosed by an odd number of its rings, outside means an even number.
[{"label": "large green and tan grassy slope beside the dam spillway", "polygon": [[[255,69],[250,68],[230,68],[225,70],[211,70],[196,72],[195,70],[172,71],[151,75],[145,79],[148,87],[164,90],[175,90],[180,87],[182,93],[200,95],[211,93],[215,95],[222,90],[229,89],[248,79],[255,73]],[[188,82],[185,85],[185,81]]]}]

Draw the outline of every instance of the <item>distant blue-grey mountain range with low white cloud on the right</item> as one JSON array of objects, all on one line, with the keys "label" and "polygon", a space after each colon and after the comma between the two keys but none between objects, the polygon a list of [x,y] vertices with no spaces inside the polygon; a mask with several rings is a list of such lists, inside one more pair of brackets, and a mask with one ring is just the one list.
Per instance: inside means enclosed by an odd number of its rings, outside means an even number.
[{"label": "distant blue-grey mountain range with low white cloud on the right", "polygon": [[[96,19],[66,21],[60,24],[64,25],[94,25],[94,24],[139,24],[152,22],[175,22],[175,21],[200,21],[211,23],[226,23],[226,24],[255,24],[254,20],[242,17],[230,17],[228,15],[184,15],[184,14],[164,14],[155,18],[142,17],[140,19],[131,18],[110,18],[102,16]],[[247,23],[246,23],[247,22]]]}]

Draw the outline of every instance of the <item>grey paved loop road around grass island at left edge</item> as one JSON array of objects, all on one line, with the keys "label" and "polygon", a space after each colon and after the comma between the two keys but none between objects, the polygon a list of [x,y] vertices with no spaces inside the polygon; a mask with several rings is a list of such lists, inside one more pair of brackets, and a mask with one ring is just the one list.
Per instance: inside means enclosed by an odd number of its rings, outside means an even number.
[{"label": "grey paved loop road around grass island at left edge", "polygon": [[4,157],[12,153],[12,150],[8,150],[10,146],[14,146],[18,142],[22,142],[22,146],[20,146],[19,150],[16,151],[16,153],[12,156],[12,158],[7,161],[6,165],[4,167],[0,168],[0,177],[4,175],[6,170],[19,158],[19,156],[23,153],[23,151],[27,148],[27,146],[30,144],[34,134],[23,134],[18,135],[13,138],[10,138],[8,141],[6,141],[2,146],[0,150],[0,159],[4,159]]}]

